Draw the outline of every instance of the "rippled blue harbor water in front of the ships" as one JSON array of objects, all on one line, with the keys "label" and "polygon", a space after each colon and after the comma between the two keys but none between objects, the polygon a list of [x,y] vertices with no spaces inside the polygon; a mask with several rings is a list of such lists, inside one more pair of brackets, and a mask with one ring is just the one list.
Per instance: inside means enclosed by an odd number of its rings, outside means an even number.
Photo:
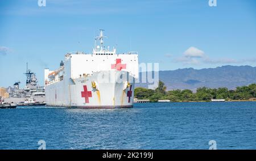
[{"label": "rippled blue harbor water in front of the ships", "polygon": [[256,149],[256,102],[0,109],[0,149]]}]

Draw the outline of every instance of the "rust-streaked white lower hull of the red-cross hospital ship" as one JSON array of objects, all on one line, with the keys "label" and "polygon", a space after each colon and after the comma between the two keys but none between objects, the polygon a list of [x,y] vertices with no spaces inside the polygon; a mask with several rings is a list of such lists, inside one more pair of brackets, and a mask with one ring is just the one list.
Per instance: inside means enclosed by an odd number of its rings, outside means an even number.
[{"label": "rust-streaked white lower hull of the red-cross hospital ship", "polygon": [[46,86],[46,104],[69,108],[131,108],[134,77],[127,71],[108,70]]}]

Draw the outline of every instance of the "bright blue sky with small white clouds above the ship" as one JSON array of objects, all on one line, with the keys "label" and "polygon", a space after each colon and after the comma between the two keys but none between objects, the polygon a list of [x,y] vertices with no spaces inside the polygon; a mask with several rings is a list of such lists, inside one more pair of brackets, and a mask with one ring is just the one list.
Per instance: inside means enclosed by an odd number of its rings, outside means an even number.
[{"label": "bright blue sky with small white clouds above the ship", "polygon": [[0,86],[24,86],[26,62],[43,85],[43,69],[65,53],[92,52],[98,29],[106,45],[160,70],[256,66],[256,1],[208,1],[0,0]]}]

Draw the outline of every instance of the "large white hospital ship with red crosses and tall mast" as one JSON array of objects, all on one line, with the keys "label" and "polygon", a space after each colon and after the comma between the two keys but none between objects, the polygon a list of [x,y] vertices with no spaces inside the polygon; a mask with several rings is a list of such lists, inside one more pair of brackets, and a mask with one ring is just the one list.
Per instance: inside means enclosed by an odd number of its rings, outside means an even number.
[{"label": "large white hospital ship with red crosses and tall mast", "polygon": [[[138,78],[138,53],[117,54],[105,48],[104,30],[95,39],[92,54],[65,54],[57,70],[44,69],[46,104],[57,107],[133,107]],[[97,45],[98,41],[100,44]]]}]

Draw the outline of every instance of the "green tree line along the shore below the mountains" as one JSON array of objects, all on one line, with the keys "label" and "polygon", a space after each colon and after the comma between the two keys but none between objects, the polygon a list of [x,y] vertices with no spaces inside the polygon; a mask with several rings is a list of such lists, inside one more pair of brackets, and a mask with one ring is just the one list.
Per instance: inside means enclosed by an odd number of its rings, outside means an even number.
[{"label": "green tree line along the shore below the mountains", "polygon": [[210,101],[211,99],[225,100],[249,100],[256,98],[256,84],[249,86],[237,87],[236,90],[228,90],[226,87],[221,88],[197,88],[196,92],[191,90],[171,90],[166,91],[166,86],[159,81],[155,90],[138,87],[135,88],[134,96],[137,99],[149,99],[151,102],[158,100],[177,101]]}]

